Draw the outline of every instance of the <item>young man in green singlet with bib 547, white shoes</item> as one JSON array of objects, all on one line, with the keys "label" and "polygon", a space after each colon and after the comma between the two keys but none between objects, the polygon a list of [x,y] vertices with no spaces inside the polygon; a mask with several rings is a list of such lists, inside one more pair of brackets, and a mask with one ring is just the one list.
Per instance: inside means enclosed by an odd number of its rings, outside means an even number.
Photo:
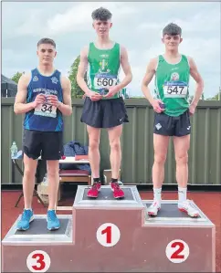
[{"label": "young man in green singlet with bib 547, white shoes", "polygon": [[[188,215],[198,216],[198,211],[186,199],[188,181],[188,150],[190,146],[190,115],[195,113],[197,103],[203,93],[204,82],[193,58],[179,53],[183,41],[180,26],[169,24],[163,28],[165,53],[153,58],[142,80],[142,92],[155,111],[153,146],[153,204],[149,215],[157,215],[161,208],[161,192],[164,179],[164,163],[169,138],[174,137],[176,180],[178,183],[178,208]],[[148,87],[155,75],[155,98]],[[195,97],[189,105],[189,77],[196,82]]]}]

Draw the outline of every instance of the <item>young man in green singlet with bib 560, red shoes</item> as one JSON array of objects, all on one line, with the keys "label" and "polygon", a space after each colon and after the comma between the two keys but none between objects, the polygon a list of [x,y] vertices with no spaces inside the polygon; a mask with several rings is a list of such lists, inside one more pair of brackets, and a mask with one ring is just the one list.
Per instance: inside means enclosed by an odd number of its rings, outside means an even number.
[{"label": "young man in green singlet with bib 560, red shoes", "polygon": [[[124,193],[118,183],[121,166],[120,138],[122,124],[128,122],[122,89],[132,81],[132,71],[126,49],[110,40],[110,11],[100,7],[93,11],[92,19],[97,40],[81,51],[77,75],[79,87],[87,96],[81,121],[87,124],[89,133],[89,163],[94,181],[88,196],[97,198],[100,191],[100,129],[106,128],[110,140],[110,186],[114,198],[122,198]],[[121,67],[125,77],[120,82]],[[86,70],[87,83],[84,79]]]}]

